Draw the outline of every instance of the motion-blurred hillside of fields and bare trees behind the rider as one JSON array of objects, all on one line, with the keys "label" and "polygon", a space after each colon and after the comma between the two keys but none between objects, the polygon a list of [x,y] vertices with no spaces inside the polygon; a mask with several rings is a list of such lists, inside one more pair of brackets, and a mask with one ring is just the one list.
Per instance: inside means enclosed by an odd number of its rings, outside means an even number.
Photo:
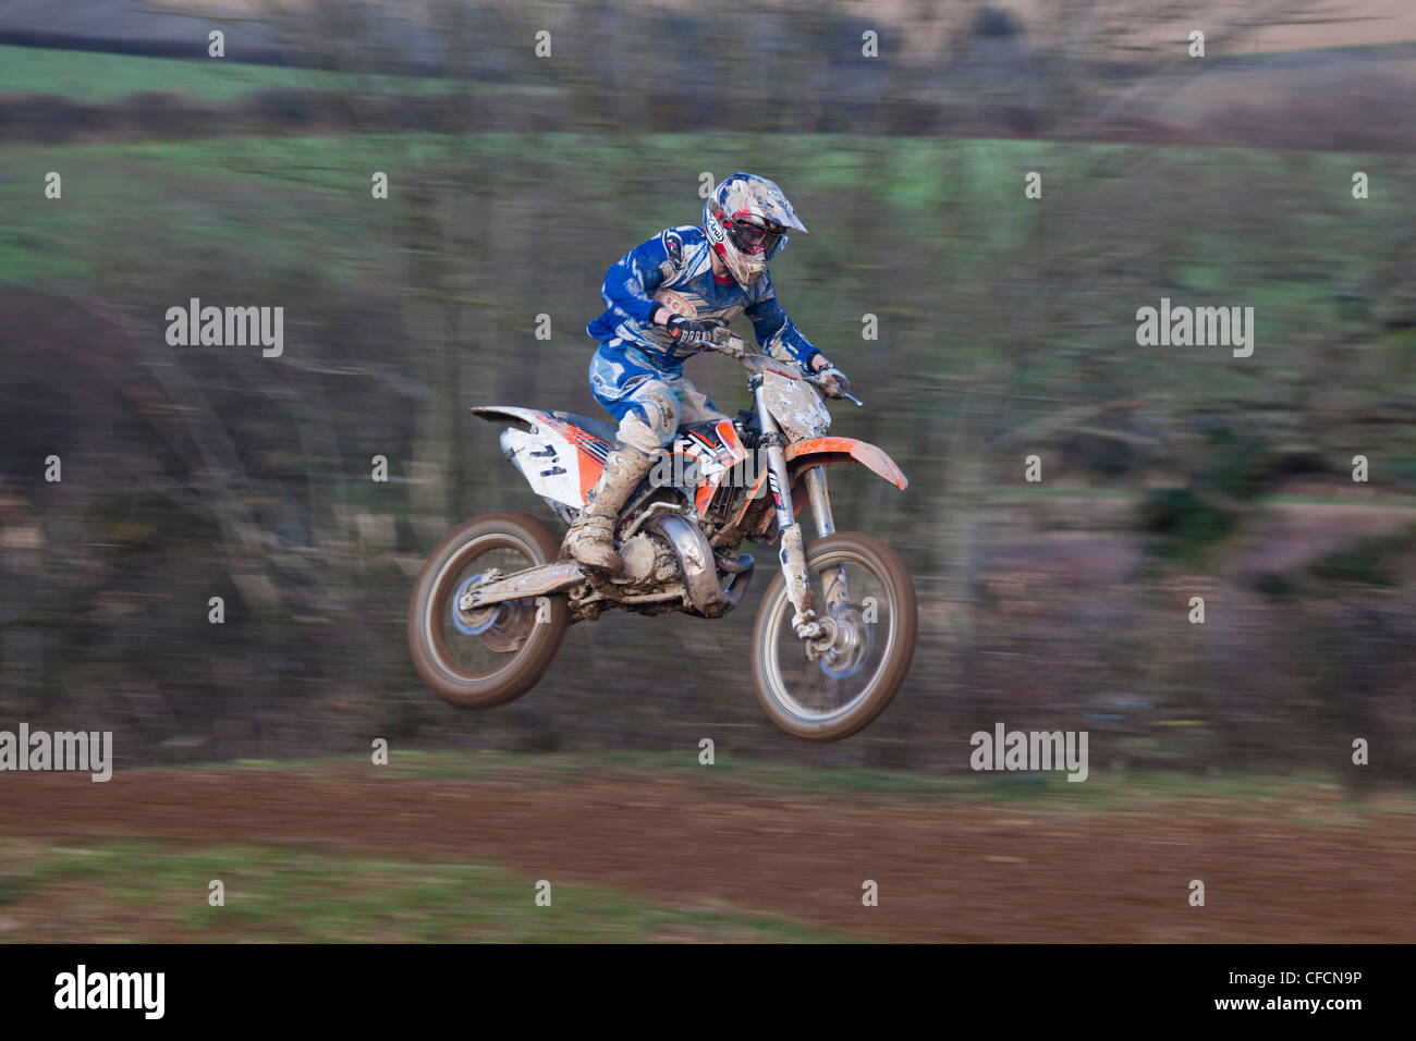
[{"label": "motion-blurred hillside of fields and bare trees behind the rider", "polygon": [[[1001,719],[1087,729],[1093,772],[1409,779],[1413,112],[1402,0],[0,4],[0,727],[113,729],[120,766],[711,735],[943,773]],[[599,415],[606,266],[743,169],[811,229],[773,275],[867,404],[837,431],[912,482],[833,473],[913,571],[908,686],[782,736],[752,593],[443,705],[413,574],[544,511],[467,406]],[[191,297],[282,306],[283,355],[167,346]],[[1161,297],[1252,306],[1253,355],[1137,346]]]}]

